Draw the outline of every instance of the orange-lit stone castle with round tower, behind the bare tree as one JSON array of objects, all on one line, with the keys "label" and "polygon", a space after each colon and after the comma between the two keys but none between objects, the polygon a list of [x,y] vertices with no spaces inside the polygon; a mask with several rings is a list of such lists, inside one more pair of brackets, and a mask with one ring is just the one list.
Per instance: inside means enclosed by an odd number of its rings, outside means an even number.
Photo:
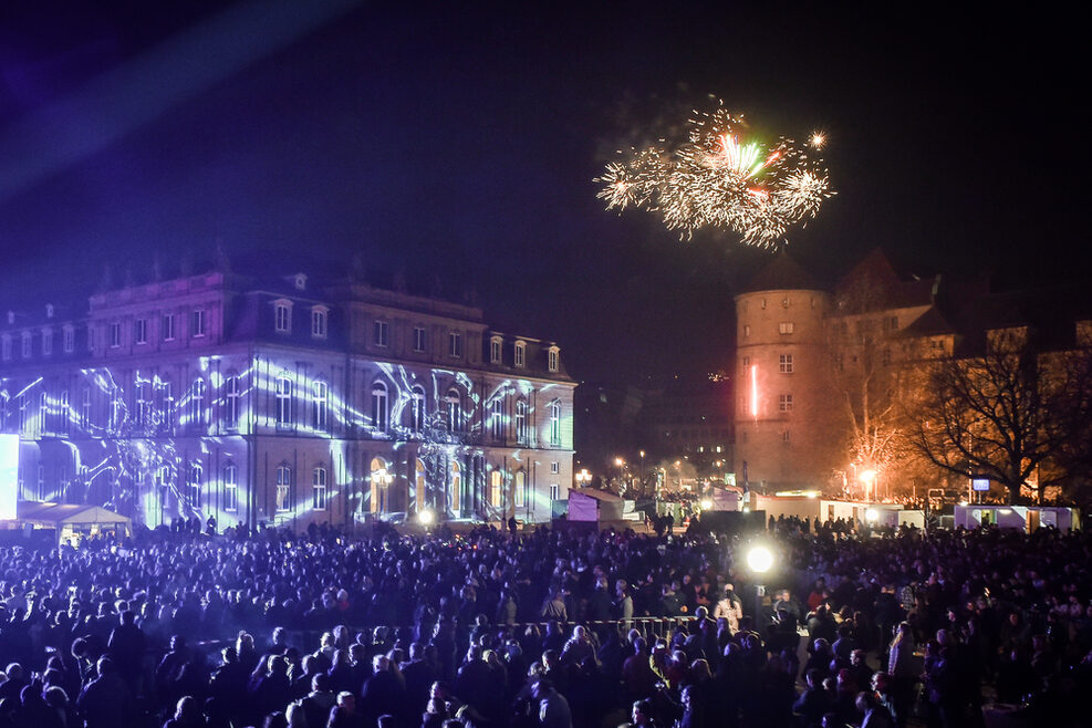
[{"label": "orange-lit stone castle with round tower, behind the bare tree", "polygon": [[[1000,335],[1033,340],[1040,356],[1092,341],[1086,292],[899,277],[878,250],[830,290],[782,252],[736,297],[736,315],[735,469],[767,492],[835,483],[882,495],[869,490],[883,483],[869,482],[877,474],[867,449],[883,447],[875,434],[925,386],[930,362],[975,361]],[[887,474],[888,488],[896,478],[921,496],[967,488],[967,478],[908,462]]]}]

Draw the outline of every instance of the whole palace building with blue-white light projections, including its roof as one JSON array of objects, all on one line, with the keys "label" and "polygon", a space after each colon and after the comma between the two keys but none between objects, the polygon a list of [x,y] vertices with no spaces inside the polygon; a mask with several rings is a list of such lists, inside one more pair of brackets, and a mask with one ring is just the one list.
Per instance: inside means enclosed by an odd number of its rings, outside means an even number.
[{"label": "whole palace building with blue-white light projections, including its roof", "polygon": [[290,526],[551,518],[572,481],[553,342],[480,309],[300,273],[214,271],[0,322],[20,499]]}]

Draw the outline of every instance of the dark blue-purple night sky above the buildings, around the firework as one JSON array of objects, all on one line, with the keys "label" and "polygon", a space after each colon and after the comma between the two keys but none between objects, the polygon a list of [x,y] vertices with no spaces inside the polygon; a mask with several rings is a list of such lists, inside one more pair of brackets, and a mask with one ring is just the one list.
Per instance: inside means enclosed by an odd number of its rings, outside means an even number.
[{"label": "dark blue-purple night sky above the buildings, around the firework", "polygon": [[769,253],[713,231],[679,242],[605,211],[592,183],[709,94],[771,135],[828,134],[839,195],[788,236],[822,280],[876,246],[999,287],[1085,274],[1075,18],[19,4],[0,11],[3,308],[80,301],[104,261],[119,283],[156,254],[177,272],[186,249],[261,274],[360,253],[379,284],[472,289],[498,327],[558,340],[579,379],[716,368],[731,295]]}]

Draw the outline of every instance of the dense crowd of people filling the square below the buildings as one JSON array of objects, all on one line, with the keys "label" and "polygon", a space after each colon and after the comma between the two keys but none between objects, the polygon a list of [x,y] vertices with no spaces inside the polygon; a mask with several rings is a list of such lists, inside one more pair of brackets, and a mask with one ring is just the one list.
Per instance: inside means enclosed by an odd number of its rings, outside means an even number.
[{"label": "dense crowd of people filling the square below the buildings", "polygon": [[856,526],[0,548],[0,728],[1086,722],[1092,539]]}]

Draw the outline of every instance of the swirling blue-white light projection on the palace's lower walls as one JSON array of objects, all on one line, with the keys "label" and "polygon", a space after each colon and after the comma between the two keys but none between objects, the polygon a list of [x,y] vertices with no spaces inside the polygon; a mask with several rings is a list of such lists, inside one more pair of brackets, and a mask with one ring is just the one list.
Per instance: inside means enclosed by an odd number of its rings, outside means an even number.
[{"label": "swirling blue-white light projection on the palace's lower walls", "polygon": [[425,509],[547,520],[571,471],[572,386],[344,355],[200,356],[2,378],[0,431],[22,436],[21,498],[152,527]]}]

